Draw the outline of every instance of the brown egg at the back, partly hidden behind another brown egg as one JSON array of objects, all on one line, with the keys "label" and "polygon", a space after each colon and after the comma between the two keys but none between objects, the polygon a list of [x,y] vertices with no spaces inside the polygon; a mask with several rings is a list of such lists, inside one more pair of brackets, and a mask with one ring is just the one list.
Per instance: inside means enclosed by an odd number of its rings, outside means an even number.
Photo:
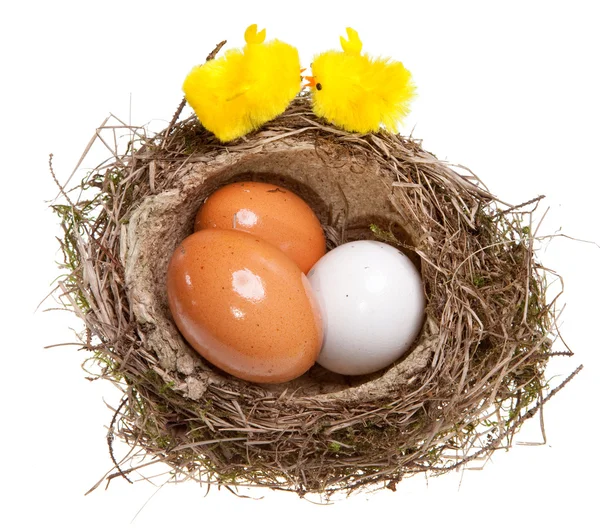
[{"label": "brown egg at the back, partly hidden behind another brown egg", "polygon": [[238,182],[215,191],[196,216],[194,229],[236,229],[277,246],[305,274],[325,255],[325,236],[310,206],[288,189]]}]

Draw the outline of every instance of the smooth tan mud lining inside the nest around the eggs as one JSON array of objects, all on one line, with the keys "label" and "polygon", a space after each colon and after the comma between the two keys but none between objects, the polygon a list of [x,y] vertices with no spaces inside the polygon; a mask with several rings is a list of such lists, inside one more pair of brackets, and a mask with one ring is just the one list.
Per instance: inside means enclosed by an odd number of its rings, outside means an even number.
[{"label": "smooth tan mud lining inside the nest around the eggs", "polygon": [[[371,226],[382,226],[419,265],[411,248],[415,247],[413,239],[421,233],[392,206],[388,195],[394,180],[381,174],[378,164],[366,162],[349,170],[348,164],[355,162],[339,150],[336,164],[331,165],[315,151],[314,144],[295,138],[270,147],[260,153],[221,154],[188,163],[180,172],[178,187],[146,198],[126,228],[127,244],[122,255],[136,319],[148,324],[148,344],[159,358],[163,376],[172,377],[173,382],[185,377],[177,387],[195,400],[202,398],[209,383],[245,385],[210,368],[190,350],[175,327],[166,299],[170,256],[193,231],[194,217],[203,200],[220,186],[259,180],[291,189],[316,212],[326,227],[330,247],[346,240],[375,238]],[[265,386],[265,390],[273,395],[285,391],[290,399],[334,393],[329,398],[375,400],[385,396],[388,386],[406,382],[425,365],[430,354],[430,348],[419,347],[392,370],[368,377],[343,377],[316,365],[292,382]],[[353,390],[344,391],[349,388]]]}]

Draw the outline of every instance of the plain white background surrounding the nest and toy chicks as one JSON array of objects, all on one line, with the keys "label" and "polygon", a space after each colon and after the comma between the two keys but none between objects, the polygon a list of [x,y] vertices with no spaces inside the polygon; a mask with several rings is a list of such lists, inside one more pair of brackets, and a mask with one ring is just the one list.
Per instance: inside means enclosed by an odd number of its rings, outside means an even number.
[{"label": "plain white background surrounding the nest and toy chicks", "polygon": [[[166,478],[115,480],[106,426],[118,395],[90,383],[74,347],[77,320],[37,304],[58,275],[56,189],[112,112],[163,127],[189,69],[222,39],[243,44],[250,23],[296,45],[304,65],[338,47],[348,25],[364,50],[413,72],[419,97],[404,133],[464,164],[507,202],[538,194],[559,229],[600,241],[597,3],[580,2],[11,2],[0,20],[2,527],[598,527],[600,249],[554,239],[539,259],[563,276],[561,333],[575,351],[551,373],[583,372],[545,407],[548,443],[497,453],[481,471],[412,478],[398,491],[318,506],[292,494],[227,491]],[[394,7],[392,7],[394,6]],[[100,156],[100,154],[98,154]],[[98,159],[84,164],[89,168]],[[541,440],[537,419],[517,441]],[[242,491],[245,492],[245,491]],[[383,522],[385,516],[386,522]],[[209,524],[209,525],[207,525]],[[52,526],[53,526],[52,525]]]}]

